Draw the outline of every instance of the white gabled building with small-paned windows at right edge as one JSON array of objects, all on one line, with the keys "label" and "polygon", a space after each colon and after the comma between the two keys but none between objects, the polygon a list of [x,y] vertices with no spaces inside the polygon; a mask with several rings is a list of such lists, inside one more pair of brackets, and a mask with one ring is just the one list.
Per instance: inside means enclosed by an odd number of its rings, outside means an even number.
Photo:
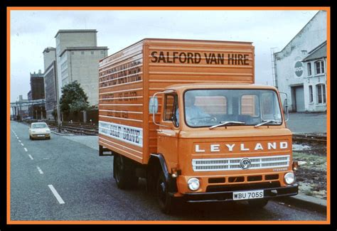
[{"label": "white gabled building with small-paned windows at right edge", "polygon": [[274,85],[287,93],[291,112],[326,111],[326,25],[326,11],[319,11],[274,53]]}]

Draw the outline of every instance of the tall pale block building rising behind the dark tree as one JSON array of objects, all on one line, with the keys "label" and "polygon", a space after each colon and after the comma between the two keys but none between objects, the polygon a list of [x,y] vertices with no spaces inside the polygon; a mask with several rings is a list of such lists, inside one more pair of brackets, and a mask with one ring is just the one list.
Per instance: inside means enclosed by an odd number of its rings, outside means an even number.
[{"label": "tall pale block building rising behind the dark tree", "polygon": [[107,47],[97,47],[96,30],[60,30],[55,35],[58,90],[77,80],[90,105],[98,104],[98,65]]}]

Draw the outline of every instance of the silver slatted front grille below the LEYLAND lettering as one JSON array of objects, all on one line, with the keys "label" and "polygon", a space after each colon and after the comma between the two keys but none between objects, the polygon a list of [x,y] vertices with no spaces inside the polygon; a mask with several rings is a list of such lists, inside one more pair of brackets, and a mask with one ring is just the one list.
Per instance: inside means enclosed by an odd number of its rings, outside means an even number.
[{"label": "silver slatted front grille below the LEYLAND lettering", "polygon": [[282,168],[289,166],[289,155],[282,156],[255,156],[240,158],[223,158],[223,159],[193,159],[193,171],[233,171],[242,170],[240,161],[242,159],[250,160],[249,169],[261,168]]}]

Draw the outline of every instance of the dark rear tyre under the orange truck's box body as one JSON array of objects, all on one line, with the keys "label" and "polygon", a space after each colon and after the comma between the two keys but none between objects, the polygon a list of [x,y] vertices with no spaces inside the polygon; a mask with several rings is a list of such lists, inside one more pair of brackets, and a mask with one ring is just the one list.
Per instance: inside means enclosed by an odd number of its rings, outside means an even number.
[{"label": "dark rear tyre under the orange truck's box body", "polygon": [[136,188],[138,184],[134,164],[122,155],[114,156],[114,180],[120,189]]}]

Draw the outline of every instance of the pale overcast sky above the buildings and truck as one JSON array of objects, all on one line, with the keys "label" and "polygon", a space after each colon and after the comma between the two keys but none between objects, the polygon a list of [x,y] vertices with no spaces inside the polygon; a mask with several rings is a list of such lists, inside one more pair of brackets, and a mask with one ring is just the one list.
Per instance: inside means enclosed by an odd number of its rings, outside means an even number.
[{"label": "pale overcast sky above the buildings and truck", "polygon": [[96,29],[108,53],[143,38],[249,41],[255,45],[255,82],[272,85],[270,48],[282,50],[314,11],[11,11],[11,102],[27,98],[30,72],[43,72],[43,50],[61,29]]}]

